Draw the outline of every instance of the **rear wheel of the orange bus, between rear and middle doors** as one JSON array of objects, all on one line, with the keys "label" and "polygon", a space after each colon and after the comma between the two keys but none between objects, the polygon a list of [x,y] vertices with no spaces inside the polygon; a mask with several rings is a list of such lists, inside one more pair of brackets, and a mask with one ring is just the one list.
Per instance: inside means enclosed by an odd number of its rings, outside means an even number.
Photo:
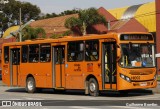
[{"label": "rear wheel of the orange bus, between rear and middle doors", "polygon": [[27,78],[26,90],[28,93],[34,93],[36,91],[36,83],[33,77]]}]

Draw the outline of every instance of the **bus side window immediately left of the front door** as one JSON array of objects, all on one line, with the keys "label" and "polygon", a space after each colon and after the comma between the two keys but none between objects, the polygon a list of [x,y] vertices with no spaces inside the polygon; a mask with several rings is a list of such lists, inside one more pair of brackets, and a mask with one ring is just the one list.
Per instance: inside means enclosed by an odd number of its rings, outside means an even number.
[{"label": "bus side window immediately left of the front door", "polygon": [[99,42],[98,40],[86,41],[85,43],[85,60],[97,61],[99,59]]}]

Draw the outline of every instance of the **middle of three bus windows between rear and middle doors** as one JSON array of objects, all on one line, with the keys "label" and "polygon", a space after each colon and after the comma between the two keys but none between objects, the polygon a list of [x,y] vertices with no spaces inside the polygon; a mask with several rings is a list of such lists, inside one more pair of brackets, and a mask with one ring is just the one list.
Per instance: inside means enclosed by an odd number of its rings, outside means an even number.
[{"label": "middle of three bus windows between rear and middle doors", "polygon": [[29,45],[29,62],[39,61],[39,45]]}]

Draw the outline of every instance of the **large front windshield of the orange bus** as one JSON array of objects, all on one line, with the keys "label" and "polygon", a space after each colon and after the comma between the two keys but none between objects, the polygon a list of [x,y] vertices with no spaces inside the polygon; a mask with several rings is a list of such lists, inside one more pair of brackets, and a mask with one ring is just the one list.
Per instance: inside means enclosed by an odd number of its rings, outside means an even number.
[{"label": "large front windshield of the orange bus", "polygon": [[154,67],[154,45],[153,44],[121,44],[120,65],[126,68]]}]

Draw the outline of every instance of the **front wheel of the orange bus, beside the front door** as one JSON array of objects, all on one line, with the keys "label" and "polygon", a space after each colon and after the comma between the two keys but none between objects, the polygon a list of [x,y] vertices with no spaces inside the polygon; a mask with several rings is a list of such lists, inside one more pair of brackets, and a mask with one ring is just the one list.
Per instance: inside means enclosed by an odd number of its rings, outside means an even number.
[{"label": "front wheel of the orange bus, beside the front door", "polygon": [[90,78],[88,83],[88,91],[91,96],[99,95],[98,83],[94,78]]}]

